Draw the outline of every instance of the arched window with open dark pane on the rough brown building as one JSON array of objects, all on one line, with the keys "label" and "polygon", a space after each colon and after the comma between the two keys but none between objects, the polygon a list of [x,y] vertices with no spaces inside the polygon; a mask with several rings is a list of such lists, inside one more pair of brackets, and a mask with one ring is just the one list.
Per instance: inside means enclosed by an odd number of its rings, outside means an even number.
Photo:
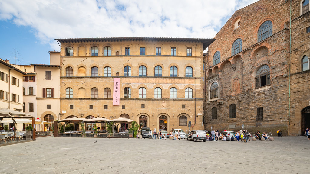
[{"label": "arched window with open dark pane on the rough brown building", "polygon": [[270,85],[270,69],[268,65],[261,66],[256,72],[256,88]]}]

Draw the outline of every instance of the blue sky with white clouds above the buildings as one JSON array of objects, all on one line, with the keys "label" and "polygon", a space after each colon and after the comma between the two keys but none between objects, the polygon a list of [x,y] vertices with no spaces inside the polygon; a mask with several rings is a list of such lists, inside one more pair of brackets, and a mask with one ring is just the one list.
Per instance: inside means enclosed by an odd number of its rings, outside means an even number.
[{"label": "blue sky with white clouds above the buildings", "polygon": [[0,0],[0,58],[49,64],[59,38],[213,38],[235,11],[256,1]]}]

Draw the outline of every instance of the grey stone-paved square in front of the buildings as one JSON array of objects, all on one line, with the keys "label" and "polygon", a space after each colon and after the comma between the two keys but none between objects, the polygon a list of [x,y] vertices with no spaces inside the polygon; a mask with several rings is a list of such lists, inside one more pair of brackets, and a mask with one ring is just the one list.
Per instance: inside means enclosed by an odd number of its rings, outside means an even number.
[{"label": "grey stone-paved square in front of the buildings", "polygon": [[40,137],[1,146],[0,173],[310,173],[307,137],[274,139],[244,143]]}]

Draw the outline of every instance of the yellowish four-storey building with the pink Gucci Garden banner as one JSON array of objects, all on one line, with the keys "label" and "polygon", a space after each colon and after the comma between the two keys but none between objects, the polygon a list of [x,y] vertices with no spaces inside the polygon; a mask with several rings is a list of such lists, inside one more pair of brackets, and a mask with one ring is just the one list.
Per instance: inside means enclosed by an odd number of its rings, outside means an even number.
[{"label": "yellowish four-storey building with the pink Gucci Garden banner", "polygon": [[[194,128],[203,129],[202,51],[214,39],[56,40],[61,47],[60,119],[125,117],[167,131],[187,130],[191,121]],[[119,106],[113,105],[118,78]],[[86,129],[92,126],[86,124]]]}]

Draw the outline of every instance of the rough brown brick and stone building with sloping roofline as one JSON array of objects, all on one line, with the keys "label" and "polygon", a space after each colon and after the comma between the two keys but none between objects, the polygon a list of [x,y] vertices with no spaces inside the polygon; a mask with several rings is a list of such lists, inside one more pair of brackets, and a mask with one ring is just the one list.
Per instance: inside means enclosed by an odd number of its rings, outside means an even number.
[{"label": "rough brown brick and stone building with sloping roofline", "polygon": [[310,122],[308,113],[301,114],[310,104],[309,62],[303,59],[309,61],[307,8],[307,0],[292,1],[291,40],[287,0],[255,2],[221,28],[204,58],[206,130],[244,125],[301,134]]}]

